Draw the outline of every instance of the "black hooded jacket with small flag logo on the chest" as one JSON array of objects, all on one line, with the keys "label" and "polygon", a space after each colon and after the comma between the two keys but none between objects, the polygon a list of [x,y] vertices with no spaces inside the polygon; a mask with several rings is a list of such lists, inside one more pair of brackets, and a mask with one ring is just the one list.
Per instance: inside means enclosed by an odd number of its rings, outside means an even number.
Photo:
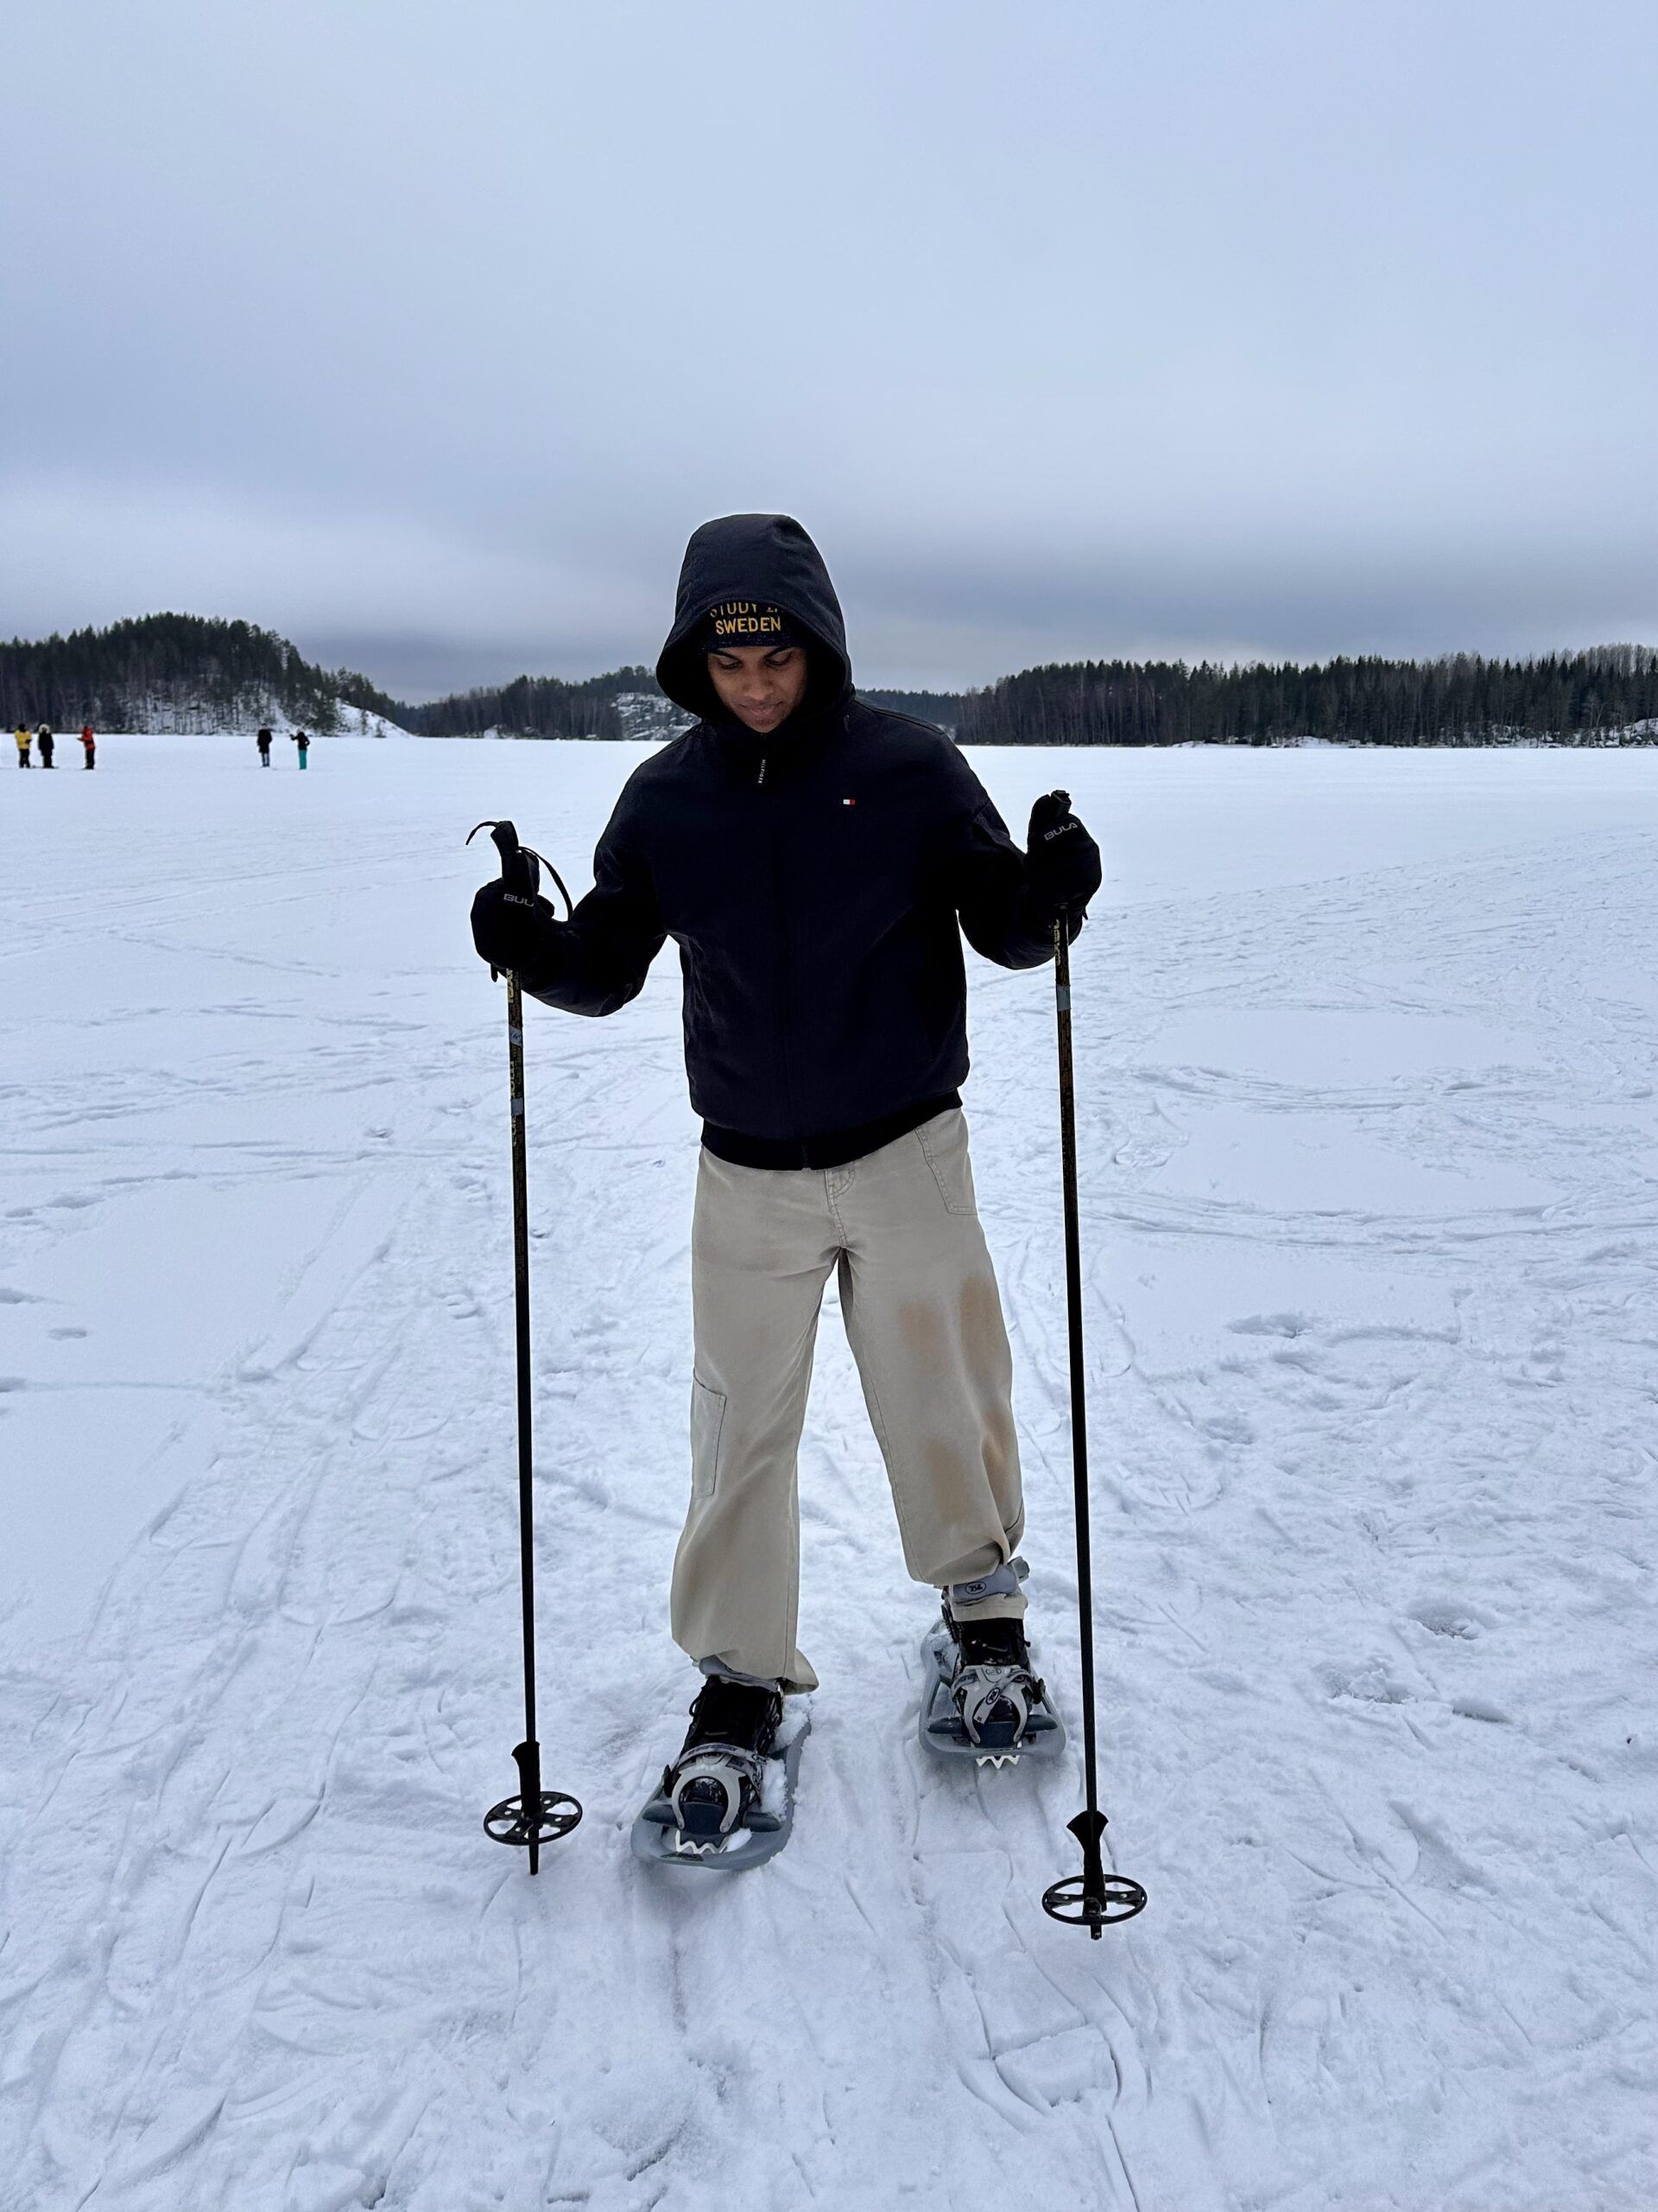
[{"label": "black hooded jacket with small flag logo on the chest", "polygon": [[[807,697],[767,737],[725,717],[696,644],[725,599],[778,606],[814,639]],[[657,679],[701,721],[628,779],[592,889],[520,982],[615,1013],[672,938],[710,1150],[756,1168],[858,1159],[957,1104],[962,933],[1001,967],[1039,967],[1054,911],[953,741],[853,695],[829,571],[789,515],[696,531]]]}]

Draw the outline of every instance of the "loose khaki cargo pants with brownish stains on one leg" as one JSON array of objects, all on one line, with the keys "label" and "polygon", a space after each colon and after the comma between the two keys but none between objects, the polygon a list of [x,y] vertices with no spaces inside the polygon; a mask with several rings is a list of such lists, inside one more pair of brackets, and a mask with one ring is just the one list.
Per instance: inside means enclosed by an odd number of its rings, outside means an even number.
[{"label": "loose khaki cargo pants with brownish stains on one leg", "polygon": [[[818,1681],[794,1641],[796,1451],[831,1270],[915,1582],[990,1575],[1024,1528],[1012,1356],[962,1110],[844,1168],[736,1168],[703,1150],[674,1641],[787,1690]],[[975,1613],[1021,1615],[1024,1595],[986,1597]]]}]

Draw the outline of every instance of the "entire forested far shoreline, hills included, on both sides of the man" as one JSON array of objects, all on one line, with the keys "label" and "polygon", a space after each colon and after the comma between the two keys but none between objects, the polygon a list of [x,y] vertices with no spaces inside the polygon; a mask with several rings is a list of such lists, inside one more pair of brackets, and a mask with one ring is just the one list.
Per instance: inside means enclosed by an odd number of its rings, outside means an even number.
[{"label": "entire forested far shoreline, hills included, on both sides of the man", "polygon": [[[1360,745],[1654,743],[1658,650],[1598,646],[1534,661],[1335,659],[1300,668],[1072,661],[977,692],[867,690],[968,745]],[[683,714],[648,668],[405,706],[349,668],[316,668],[250,622],[146,615],[106,630],[0,644],[0,723],[99,730],[252,730],[290,721],[323,734],[363,714],[422,737],[659,737]]]}]

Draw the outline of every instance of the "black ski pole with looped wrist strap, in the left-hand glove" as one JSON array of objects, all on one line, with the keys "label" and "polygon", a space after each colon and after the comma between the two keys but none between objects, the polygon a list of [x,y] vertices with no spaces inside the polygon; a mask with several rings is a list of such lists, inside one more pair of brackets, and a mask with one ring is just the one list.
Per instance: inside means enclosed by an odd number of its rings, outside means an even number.
[{"label": "black ski pole with looped wrist strap, in the left-hand glove", "polygon": [[[511,823],[478,823],[466,843],[489,830],[502,856],[502,883],[515,898],[533,900],[546,867],[564,894],[559,874],[528,845],[517,843]],[[491,975],[495,969],[491,969]],[[531,1451],[531,1201],[524,1148],[524,993],[506,971],[506,1073],[513,1097],[513,1303],[517,1310],[517,1548],[520,1597],[524,1606],[524,1741],[513,1745],[517,1796],[502,1798],[484,1814],[484,1832],[531,1854],[531,1874],[542,1869],[542,1845],[568,1836],[581,1807],[564,1790],[542,1787],[542,1745],[535,1736],[535,1484]]]}]

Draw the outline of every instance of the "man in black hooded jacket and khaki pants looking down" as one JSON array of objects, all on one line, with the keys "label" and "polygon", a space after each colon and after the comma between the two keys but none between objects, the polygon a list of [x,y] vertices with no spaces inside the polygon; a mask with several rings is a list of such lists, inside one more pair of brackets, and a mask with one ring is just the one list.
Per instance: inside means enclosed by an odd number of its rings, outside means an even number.
[{"label": "man in black hooded jacket and khaki pants looking down", "polygon": [[[628,779],[592,891],[559,922],[491,883],[473,940],[584,1015],[626,1006],[679,947],[703,1155],[672,1628],[730,1743],[767,1739],[778,1692],[816,1686],[796,1447],[831,1270],[909,1571],[964,1650],[973,1630],[984,1666],[1028,1674],[1012,1363],[959,1099],[962,936],[1039,967],[1101,869],[1063,792],[1037,803],[1026,856],[942,730],[858,699],[833,584],[787,515],[692,535],[657,677],[699,721]],[[699,1725],[694,1708],[688,1750]]]}]

